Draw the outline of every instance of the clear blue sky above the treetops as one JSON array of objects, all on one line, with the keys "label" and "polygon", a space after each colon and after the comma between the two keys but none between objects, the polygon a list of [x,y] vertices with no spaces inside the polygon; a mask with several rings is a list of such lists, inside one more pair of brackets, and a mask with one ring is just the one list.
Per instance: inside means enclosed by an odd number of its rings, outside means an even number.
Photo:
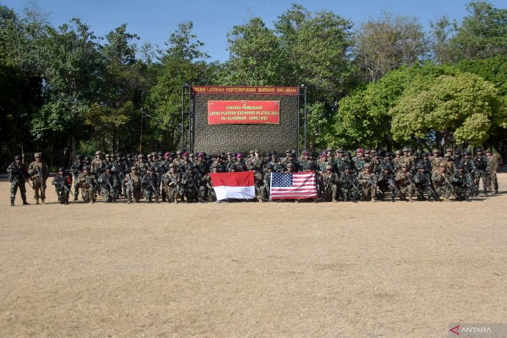
[{"label": "clear blue sky above the treetops", "polygon": [[[141,37],[140,43],[151,42],[163,46],[178,23],[192,21],[194,34],[204,43],[203,51],[209,61],[228,59],[227,33],[233,26],[245,24],[251,17],[261,17],[268,27],[291,3],[299,3],[312,12],[331,10],[351,19],[355,26],[367,19],[379,17],[382,10],[395,15],[415,16],[426,30],[429,22],[443,15],[461,20],[467,15],[461,0],[0,0],[0,4],[22,13],[28,3],[34,3],[49,15],[49,22],[59,26],[72,17],[79,17],[97,36],[105,36],[121,24],[128,24],[128,33]],[[505,0],[490,0],[497,8],[505,8]]]}]

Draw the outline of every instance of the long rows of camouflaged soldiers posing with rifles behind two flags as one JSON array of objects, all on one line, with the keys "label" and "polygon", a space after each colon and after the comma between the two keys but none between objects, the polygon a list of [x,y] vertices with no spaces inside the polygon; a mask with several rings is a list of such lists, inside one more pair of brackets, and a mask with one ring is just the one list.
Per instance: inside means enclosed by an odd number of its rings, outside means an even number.
[{"label": "long rows of camouflaged soldiers posing with rifles behind two flags", "polygon": [[[124,196],[126,203],[139,203],[144,196],[146,203],[188,203],[216,201],[210,173],[253,171],[256,201],[269,201],[271,173],[314,171],[318,198],[323,201],[383,201],[396,196],[402,201],[449,201],[451,195],[457,201],[478,196],[479,184],[483,194],[488,189],[498,192],[497,169],[499,161],[490,149],[475,149],[463,154],[447,149],[440,154],[417,153],[409,148],[386,152],[357,149],[351,156],[343,149],[326,149],[317,155],[303,151],[297,157],[288,149],[284,157],[277,153],[260,153],[258,149],[244,156],[242,153],[150,153],[149,155],[124,156],[122,153],[95,153],[95,158],[78,155],[67,170],[58,169],[51,182],[58,194],[58,201],[69,204],[69,196],[86,203],[95,203],[100,194],[106,203],[115,203]],[[19,189],[23,204],[26,201],[25,183],[34,190],[35,204],[44,204],[48,167],[42,161],[42,153],[28,167],[22,157],[16,155],[8,167],[11,182],[10,201],[14,205]],[[72,191],[72,188],[74,191]],[[317,201],[314,199],[314,201]],[[296,200],[299,201],[299,200]]]}]

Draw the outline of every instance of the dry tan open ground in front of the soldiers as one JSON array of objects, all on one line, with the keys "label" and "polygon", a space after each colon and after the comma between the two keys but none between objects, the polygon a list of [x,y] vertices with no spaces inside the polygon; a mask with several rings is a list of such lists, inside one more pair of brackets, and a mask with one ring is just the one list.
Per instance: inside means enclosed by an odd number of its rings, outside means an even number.
[{"label": "dry tan open ground in front of the soldiers", "polygon": [[50,186],[50,204],[10,208],[3,182],[0,335],[447,337],[507,323],[507,174],[499,184],[468,203],[193,205],[59,205]]}]

